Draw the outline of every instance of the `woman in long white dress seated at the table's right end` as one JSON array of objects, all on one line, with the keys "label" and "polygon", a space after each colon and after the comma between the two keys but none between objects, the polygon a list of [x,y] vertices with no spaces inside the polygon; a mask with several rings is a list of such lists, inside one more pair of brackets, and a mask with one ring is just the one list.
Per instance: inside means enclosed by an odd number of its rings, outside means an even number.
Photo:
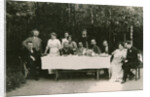
[{"label": "woman in long white dress seated at the table's right end", "polygon": [[127,50],[123,47],[123,43],[118,44],[118,49],[116,49],[112,55],[113,60],[111,62],[111,79],[113,82],[122,82],[123,78],[123,60],[126,58]]}]

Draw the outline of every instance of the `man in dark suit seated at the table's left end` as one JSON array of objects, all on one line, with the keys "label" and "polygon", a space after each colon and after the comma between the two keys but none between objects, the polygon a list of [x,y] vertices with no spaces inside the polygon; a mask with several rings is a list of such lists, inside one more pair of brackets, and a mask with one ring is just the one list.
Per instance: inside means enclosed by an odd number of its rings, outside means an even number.
[{"label": "man in dark suit seated at the table's left end", "polygon": [[23,60],[26,64],[28,72],[32,75],[35,80],[39,79],[41,58],[39,53],[33,48],[31,41],[27,42],[27,48],[23,52]]}]

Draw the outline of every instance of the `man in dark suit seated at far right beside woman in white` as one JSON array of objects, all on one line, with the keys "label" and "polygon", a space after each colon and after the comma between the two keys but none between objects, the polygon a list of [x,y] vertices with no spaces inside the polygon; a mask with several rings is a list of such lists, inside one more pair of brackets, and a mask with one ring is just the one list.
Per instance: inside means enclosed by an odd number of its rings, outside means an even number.
[{"label": "man in dark suit seated at far right beside woman in white", "polygon": [[132,79],[135,75],[130,71],[131,68],[136,68],[139,65],[138,61],[138,50],[132,46],[130,41],[126,42],[127,47],[127,57],[123,64],[124,76],[123,82],[126,82],[126,79],[129,75],[129,78]]}]

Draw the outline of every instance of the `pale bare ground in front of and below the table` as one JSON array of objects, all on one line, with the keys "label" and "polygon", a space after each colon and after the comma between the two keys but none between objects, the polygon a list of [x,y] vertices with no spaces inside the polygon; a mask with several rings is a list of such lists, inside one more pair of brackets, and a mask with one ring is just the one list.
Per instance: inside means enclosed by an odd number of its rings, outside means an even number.
[{"label": "pale bare ground in front of and below the table", "polygon": [[110,82],[107,78],[96,80],[93,76],[66,78],[58,81],[53,78],[40,78],[38,81],[28,79],[20,88],[8,92],[7,96],[48,95],[63,93],[86,93],[100,91],[142,90],[143,70],[139,80],[130,80],[124,84]]}]

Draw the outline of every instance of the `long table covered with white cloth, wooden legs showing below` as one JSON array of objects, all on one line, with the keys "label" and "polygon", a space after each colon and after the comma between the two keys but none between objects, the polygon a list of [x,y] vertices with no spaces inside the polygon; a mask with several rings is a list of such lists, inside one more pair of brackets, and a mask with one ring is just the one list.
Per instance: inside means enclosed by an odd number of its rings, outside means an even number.
[{"label": "long table covered with white cloth, wooden legs showing below", "polygon": [[110,56],[44,56],[42,57],[42,69],[55,70],[56,80],[60,70],[96,70],[96,77],[99,79],[100,69],[110,71]]}]

